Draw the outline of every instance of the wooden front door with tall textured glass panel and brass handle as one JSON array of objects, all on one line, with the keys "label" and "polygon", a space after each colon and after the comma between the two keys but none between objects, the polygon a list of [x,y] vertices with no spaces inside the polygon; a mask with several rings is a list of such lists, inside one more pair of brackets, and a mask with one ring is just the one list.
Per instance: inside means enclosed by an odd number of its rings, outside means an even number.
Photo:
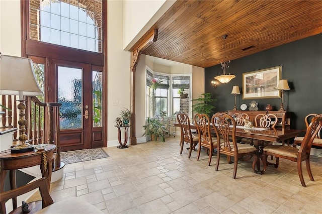
[{"label": "wooden front door with tall textured glass panel and brass handle", "polygon": [[[51,61],[51,60],[50,60]],[[92,72],[89,64],[52,60],[49,80],[55,88],[60,108],[61,151],[91,148],[92,132]],[[49,86],[51,87],[51,86]]]}]

